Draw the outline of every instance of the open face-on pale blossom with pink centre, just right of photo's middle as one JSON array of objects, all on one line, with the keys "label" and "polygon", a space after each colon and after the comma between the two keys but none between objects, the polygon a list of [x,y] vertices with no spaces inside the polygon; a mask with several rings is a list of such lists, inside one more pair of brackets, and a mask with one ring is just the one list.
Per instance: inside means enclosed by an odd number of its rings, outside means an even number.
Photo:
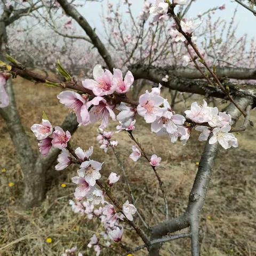
[{"label": "open face-on pale blossom with pink centre, just right of photo's middle", "polygon": [[144,117],[146,123],[153,123],[157,116],[162,115],[162,109],[159,108],[164,102],[164,99],[154,93],[146,91],[139,98],[139,105],[137,107],[138,114]]}]

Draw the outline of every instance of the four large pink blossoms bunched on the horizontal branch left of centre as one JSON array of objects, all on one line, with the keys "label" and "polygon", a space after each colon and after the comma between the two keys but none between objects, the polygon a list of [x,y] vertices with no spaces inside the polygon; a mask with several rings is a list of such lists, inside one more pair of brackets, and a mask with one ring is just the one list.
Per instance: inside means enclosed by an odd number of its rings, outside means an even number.
[{"label": "four large pink blossoms bunched on the horizontal branch left of centre", "polygon": [[[127,71],[124,79],[120,69],[114,68],[112,74],[109,70],[103,70],[100,65],[93,68],[93,78],[85,79],[82,85],[85,89],[92,91],[95,97],[89,100],[87,94],[79,94],[73,91],[64,91],[58,95],[60,103],[76,114],[79,125],[87,125],[101,121],[99,126],[105,129],[108,119],[116,119],[113,109],[115,105],[107,102],[103,96],[116,93],[124,94],[129,91],[134,78],[130,71]],[[90,109],[90,110],[89,110]]]}]

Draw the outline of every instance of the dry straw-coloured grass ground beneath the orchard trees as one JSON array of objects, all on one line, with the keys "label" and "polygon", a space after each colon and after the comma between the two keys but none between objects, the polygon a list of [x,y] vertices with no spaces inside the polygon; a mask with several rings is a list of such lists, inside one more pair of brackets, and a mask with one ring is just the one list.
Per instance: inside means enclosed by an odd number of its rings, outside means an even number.
[{"label": "dry straw-coloured grass ground beneath the orchard trees", "polygon": [[[42,111],[45,111],[54,126],[61,125],[68,114],[68,110],[56,98],[60,89],[33,85],[21,78],[14,80],[14,89],[22,124],[35,150],[38,150],[30,126],[41,122]],[[167,97],[170,94],[163,90],[162,95]],[[195,96],[186,103],[179,103],[174,110],[182,113],[190,107],[192,100],[201,102],[202,99]],[[222,105],[225,106],[225,103]],[[250,119],[256,123],[255,110],[251,114]],[[87,243],[95,232],[100,233],[99,223],[74,213],[68,205],[75,190],[71,182],[71,177],[76,174],[75,166],[65,171],[55,171],[53,167],[52,173],[57,178],[49,179],[52,185],[45,202],[33,210],[22,210],[18,207],[23,186],[22,172],[7,128],[3,120],[0,121],[0,255],[61,255],[65,249],[73,246],[77,246],[83,255],[94,255],[92,250],[87,249]],[[241,124],[240,121],[237,127]],[[107,131],[115,131],[116,125],[116,122],[111,122]],[[140,118],[137,118],[135,126],[134,135],[139,138],[148,155],[157,154],[162,157],[158,172],[164,181],[171,217],[177,217],[186,209],[205,143],[198,141],[198,132],[191,135],[187,146],[182,146],[180,142],[172,144],[168,137],[157,137]],[[94,146],[93,159],[104,162],[101,175],[106,181],[111,171],[122,173],[112,151],[109,149],[105,154],[99,148],[96,141],[97,127],[98,124],[79,127],[71,143],[73,147],[80,146],[83,149]],[[228,150],[220,148],[214,166],[201,215],[200,238],[204,256],[256,255],[256,135],[252,127],[249,127],[246,132],[236,136],[239,147]],[[159,215],[159,212],[163,212],[161,190],[150,166],[142,158],[138,162],[129,158],[133,143],[127,133],[115,133],[113,139],[118,140],[116,150],[124,159],[138,209],[149,225],[164,220],[164,213]],[[121,203],[128,198],[124,187],[124,182],[120,180],[113,188]],[[131,247],[142,244],[136,236],[133,237],[133,233],[128,234],[124,232],[123,243]],[[46,243],[47,238],[51,238],[51,243]],[[103,249],[101,255],[113,255],[113,252]],[[135,252],[133,255],[146,255],[146,251]],[[190,255],[189,239],[165,243],[161,255]]]}]

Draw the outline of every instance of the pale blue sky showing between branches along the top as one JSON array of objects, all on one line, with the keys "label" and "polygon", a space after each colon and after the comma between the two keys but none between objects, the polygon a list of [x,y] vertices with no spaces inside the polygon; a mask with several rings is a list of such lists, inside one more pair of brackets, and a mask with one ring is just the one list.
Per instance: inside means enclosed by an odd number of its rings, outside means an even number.
[{"label": "pale blue sky showing between branches along the top", "polygon": [[[119,0],[102,0],[101,3],[87,1],[83,9],[79,10],[86,17],[86,19],[89,20],[90,24],[93,27],[97,28],[100,34],[103,33],[100,19],[100,14],[102,12],[101,6],[103,5],[104,8],[106,8],[107,2],[113,3],[115,5],[119,2]],[[134,13],[134,16],[137,16],[142,9],[144,1],[130,0],[130,2],[132,3],[132,12]],[[121,3],[123,3],[123,0],[121,0]],[[235,23],[238,24],[238,28],[236,31],[237,36],[247,34],[249,39],[255,37],[256,29],[253,24],[256,24],[256,17],[251,12],[246,10],[243,6],[237,4],[234,0],[197,0],[191,5],[187,17],[196,17],[198,13],[204,13],[212,7],[221,6],[223,4],[226,5],[226,9],[222,11],[216,11],[214,17],[217,19],[221,16],[221,18],[230,21],[236,7],[238,6],[235,18]],[[125,13],[125,6],[122,10],[123,14]]]}]

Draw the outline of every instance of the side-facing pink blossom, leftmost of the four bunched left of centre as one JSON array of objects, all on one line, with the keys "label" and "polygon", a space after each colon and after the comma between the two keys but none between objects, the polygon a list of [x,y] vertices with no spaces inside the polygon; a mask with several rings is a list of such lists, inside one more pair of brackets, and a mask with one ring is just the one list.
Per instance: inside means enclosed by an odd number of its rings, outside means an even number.
[{"label": "side-facing pink blossom, leftmost of the four bunched left of centre", "polygon": [[73,91],[64,91],[57,95],[60,103],[76,114],[77,122],[82,125],[90,123],[90,116],[87,110],[87,97]]}]

